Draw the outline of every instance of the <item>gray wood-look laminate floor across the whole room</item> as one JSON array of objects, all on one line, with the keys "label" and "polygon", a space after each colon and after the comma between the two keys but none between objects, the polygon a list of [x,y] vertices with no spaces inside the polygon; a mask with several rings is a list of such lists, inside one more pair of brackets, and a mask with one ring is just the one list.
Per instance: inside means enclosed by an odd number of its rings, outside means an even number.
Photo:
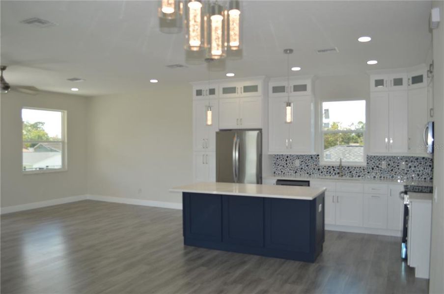
[{"label": "gray wood-look laminate floor across the whole room", "polygon": [[1,216],[1,293],[427,293],[400,238],[326,232],[316,263],[182,244],[182,212],[85,200]]}]

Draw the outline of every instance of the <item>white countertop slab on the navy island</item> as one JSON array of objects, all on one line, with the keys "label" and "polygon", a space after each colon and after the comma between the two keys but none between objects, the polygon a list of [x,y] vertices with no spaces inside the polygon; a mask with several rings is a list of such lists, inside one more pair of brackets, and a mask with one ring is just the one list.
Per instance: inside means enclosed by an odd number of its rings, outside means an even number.
[{"label": "white countertop slab on the navy island", "polygon": [[325,188],[310,188],[299,186],[272,186],[260,184],[237,183],[195,183],[175,187],[170,192],[188,192],[203,194],[220,194],[235,196],[253,196],[268,198],[287,198],[313,200],[325,192]]}]

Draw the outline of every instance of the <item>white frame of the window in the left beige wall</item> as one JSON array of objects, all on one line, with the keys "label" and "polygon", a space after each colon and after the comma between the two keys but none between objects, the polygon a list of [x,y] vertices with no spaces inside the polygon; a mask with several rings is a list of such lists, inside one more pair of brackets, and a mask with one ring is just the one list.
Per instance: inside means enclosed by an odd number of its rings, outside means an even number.
[{"label": "white frame of the window in the left beige wall", "polygon": [[[24,141],[23,140],[23,117],[22,117],[22,111],[23,109],[30,109],[30,110],[45,110],[45,111],[57,111],[61,112],[61,140],[60,141]],[[21,141],[22,141],[22,165],[21,170],[22,174],[36,174],[36,173],[51,173],[51,172],[67,172],[68,171],[68,156],[67,156],[67,150],[68,150],[68,139],[67,139],[67,118],[68,118],[68,112],[66,110],[62,109],[52,109],[52,108],[42,108],[42,107],[32,107],[32,106],[23,106],[20,108],[20,118],[22,120],[22,133],[21,135]],[[60,169],[48,169],[48,170],[33,170],[33,171],[26,171],[23,169],[23,145],[25,143],[61,143],[62,145],[62,167]]]}]

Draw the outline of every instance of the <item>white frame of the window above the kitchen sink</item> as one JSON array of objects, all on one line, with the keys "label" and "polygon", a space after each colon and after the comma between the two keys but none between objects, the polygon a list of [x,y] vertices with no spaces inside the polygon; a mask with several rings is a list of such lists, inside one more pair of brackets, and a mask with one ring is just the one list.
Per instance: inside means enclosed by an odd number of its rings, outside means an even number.
[{"label": "white frame of the window above the kitchen sink", "polygon": [[[361,130],[324,130],[324,113],[322,103],[324,102],[344,102],[344,101],[365,101],[365,128]],[[367,134],[368,134],[368,99],[366,98],[344,98],[344,99],[331,99],[322,100],[319,103],[319,165],[320,166],[337,166],[339,161],[326,161],[324,159],[324,134],[332,133],[362,133],[362,141],[364,143],[363,160],[362,161],[342,161],[342,166],[350,167],[365,167],[367,166]]]}]

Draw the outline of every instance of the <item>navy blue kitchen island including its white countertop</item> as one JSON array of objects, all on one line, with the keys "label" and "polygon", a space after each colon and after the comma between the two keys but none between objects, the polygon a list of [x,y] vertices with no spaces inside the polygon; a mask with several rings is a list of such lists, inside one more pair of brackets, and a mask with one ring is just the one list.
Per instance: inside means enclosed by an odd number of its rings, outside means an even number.
[{"label": "navy blue kitchen island including its white countertop", "polygon": [[314,262],[324,243],[325,189],[199,183],[182,192],[184,244]]}]

